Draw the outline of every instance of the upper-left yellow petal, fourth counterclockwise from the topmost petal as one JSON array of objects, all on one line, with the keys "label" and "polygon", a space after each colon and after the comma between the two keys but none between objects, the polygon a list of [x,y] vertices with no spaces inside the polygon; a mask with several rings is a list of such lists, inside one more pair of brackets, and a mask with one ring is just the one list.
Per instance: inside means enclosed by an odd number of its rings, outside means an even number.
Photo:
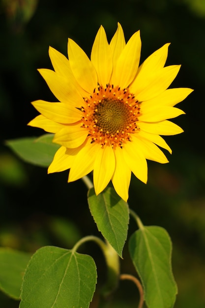
[{"label": "upper-left yellow petal, fourth counterclockwise from the topmost petal", "polygon": [[81,94],[72,87],[72,78],[69,80],[51,69],[41,68],[38,71],[60,102],[74,107],[81,107],[84,104]]}]

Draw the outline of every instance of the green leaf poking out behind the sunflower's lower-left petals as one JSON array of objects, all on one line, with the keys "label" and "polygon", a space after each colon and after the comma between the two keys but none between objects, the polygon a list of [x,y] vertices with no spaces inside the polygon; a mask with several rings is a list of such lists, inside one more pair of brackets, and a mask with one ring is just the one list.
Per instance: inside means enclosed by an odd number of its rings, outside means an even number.
[{"label": "green leaf poking out behind the sunflower's lower-left petals", "polygon": [[6,141],[6,144],[22,159],[41,167],[48,167],[59,149],[52,142],[54,134],[45,134],[39,138],[29,137]]}]

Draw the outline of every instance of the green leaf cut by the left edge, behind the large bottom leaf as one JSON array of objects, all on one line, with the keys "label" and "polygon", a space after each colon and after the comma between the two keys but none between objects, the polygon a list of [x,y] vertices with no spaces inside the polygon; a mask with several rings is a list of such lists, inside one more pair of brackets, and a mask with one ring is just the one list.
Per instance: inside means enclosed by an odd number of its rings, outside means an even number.
[{"label": "green leaf cut by the left edge, behind the large bottom leaf", "polygon": [[0,290],[14,299],[20,299],[22,278],[30,257],[30,253],[0,248]]}]

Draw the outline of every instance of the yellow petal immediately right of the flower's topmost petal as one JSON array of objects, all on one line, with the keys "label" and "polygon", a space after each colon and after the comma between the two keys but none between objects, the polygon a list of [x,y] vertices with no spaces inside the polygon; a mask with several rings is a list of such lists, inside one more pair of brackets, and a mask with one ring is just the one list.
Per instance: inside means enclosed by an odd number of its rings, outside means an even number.
[{"label": "yellow petal immediately right of the flower's topmost petal", "polygon": [[116,64],[113,83],[120,88],[127,88],[136,76],[141,53],[140,31],[134,33],[122,50]]}]

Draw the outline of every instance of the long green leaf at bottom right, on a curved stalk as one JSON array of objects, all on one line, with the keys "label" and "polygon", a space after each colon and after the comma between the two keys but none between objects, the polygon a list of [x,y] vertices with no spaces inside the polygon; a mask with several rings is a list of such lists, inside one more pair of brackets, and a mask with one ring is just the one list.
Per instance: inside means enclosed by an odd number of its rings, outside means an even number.
[{"label": "long green leaf at bottom right, on a curved stalk", "polygon": [[148,308],[172,308],[177,286],[172,274],[172,242],[167,231],[143,226],[130,238],[129,250],[141,278]]}]

